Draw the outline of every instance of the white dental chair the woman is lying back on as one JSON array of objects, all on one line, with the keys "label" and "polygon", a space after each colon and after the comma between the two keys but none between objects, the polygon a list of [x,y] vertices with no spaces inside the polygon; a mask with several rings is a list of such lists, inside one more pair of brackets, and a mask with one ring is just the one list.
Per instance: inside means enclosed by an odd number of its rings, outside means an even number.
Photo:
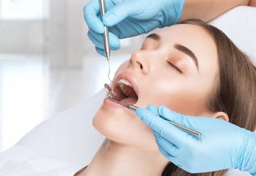
[{"label": "white dental chair the woman is lying back on", "polygon": [[[256,63],[256,8],[238,6],[210,24],[223,30]],[[103,85],[102,85],[103,87]],[[92,117],[106,96],[100,90],[91,98],[46,119],[18,143],[0,154],[0,175],[72,175],[86,166],[102,144],[103,136],[92,126]],[[86,108],[85,108],[86,107]],[[58,174],[71,168],[72,172]],[[226,175],[250,175],[229,170]]]}]

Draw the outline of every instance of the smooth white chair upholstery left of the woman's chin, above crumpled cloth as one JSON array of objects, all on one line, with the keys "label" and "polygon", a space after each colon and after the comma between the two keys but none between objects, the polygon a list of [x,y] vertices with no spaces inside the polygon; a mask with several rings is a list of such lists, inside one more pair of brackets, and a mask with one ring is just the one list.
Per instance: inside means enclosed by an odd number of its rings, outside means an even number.
[{"label": "smooth white chair upholstery left of the woman's chin, above crumpled cloth", "polygon": [[104,139],[92,126],[92,118],[105,96],[105,90],[101,90],[84,102],[47,119],[17,145],[78,165],[90,162]]}]

